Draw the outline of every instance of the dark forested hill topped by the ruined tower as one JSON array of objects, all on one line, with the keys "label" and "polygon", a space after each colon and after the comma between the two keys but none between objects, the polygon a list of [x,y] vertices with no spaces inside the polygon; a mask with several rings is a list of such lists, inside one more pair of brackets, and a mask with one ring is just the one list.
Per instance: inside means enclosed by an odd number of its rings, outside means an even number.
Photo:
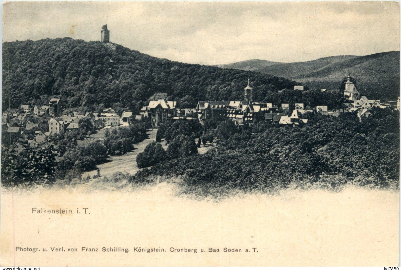
[{"label": "dark forested hill topped by the ruined tower", "polygon": [[294,81],[251,71],[159,59],[121,45],[71,38],[3,43],[2,106],[47,104],[63,107],[128,107],[138,110],[155,93],[189,104],[198,100],[242,99],[248,77],[255,99],[293,88]]}]

